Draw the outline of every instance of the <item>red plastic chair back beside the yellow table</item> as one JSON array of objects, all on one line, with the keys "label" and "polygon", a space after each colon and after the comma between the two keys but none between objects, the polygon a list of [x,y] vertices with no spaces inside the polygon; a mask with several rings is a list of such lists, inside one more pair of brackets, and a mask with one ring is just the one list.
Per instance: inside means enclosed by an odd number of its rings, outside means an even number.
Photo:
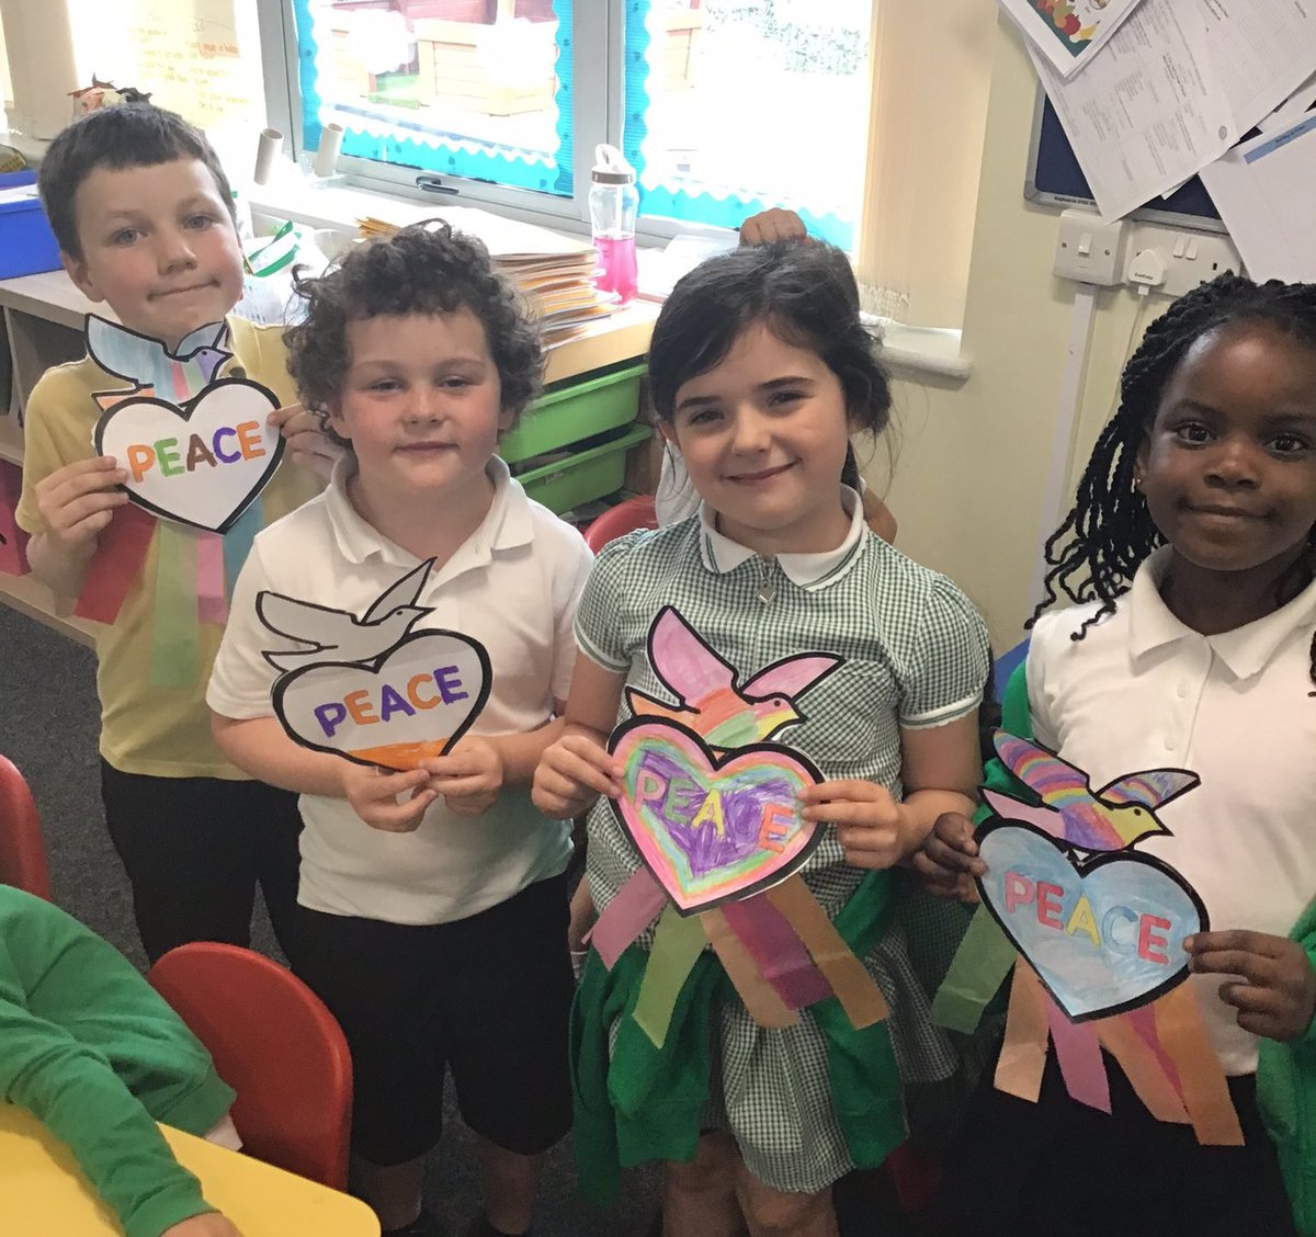
[{"label": "red plastic chair back beside the yellow table", "polygon": [[351,1057],[320,997],[262,954],[213,941],[171,949],[146,978],[237,1092],[243,1150],[345,1190]]}]

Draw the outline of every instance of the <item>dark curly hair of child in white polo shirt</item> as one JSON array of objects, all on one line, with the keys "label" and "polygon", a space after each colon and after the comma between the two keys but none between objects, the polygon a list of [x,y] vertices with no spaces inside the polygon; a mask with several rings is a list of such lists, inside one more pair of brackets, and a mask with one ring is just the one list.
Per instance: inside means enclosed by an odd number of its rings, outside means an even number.
[{"label": "dark curly hair of child in white polo shirt", "polygon": [[312,279],[299,272],[293,282],[307,316],[283,333],[283,342],[288,372],[313,412],[326,413],[342,396],[351,363],[347,324],[412,313],[468,309],[480,320],[503,409],[513,420],[540,391],[544,354],[537,321],[494,270],[484,245],[445,222],[411,224],[391,237],[366,241],[326,275]]}]

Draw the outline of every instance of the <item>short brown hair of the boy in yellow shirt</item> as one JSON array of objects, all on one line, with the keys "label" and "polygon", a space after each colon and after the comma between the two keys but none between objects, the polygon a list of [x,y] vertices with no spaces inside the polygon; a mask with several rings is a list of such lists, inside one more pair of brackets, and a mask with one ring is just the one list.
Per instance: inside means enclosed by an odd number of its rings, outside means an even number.
[{"label": "short brown hair of the boy in yellow shirt", "polygon": [[233,191],[220,157],[200,129],[150,103],[97,108],[61,129],[41,159],[37,187],[50,230],[70,258],[83,257],[75,203],[82,183],[97,168],[124,171],[197,159],[215,178],[220,200],[233,218]]}]

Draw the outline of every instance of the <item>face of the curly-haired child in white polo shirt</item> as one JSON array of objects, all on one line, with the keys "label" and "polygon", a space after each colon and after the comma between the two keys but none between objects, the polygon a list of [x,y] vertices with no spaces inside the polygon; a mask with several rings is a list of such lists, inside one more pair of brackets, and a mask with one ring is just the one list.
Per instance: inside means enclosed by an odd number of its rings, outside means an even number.
[{"label": "face of the curly-haired child in white polo shirt", "polygon": [[511,424],[484,325],[470,309],[347,324],[349,366],[330,424],[351,441],[372,505],[484,487]]}]

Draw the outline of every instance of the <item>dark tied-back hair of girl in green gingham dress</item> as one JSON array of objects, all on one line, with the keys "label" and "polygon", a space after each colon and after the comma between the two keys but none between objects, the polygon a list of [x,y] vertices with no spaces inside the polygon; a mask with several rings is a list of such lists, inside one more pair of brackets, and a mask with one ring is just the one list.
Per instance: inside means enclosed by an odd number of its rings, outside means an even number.
[{"label": "dark tied-back hair of girl in green gingham dress", "polygon": [[671,421],[683,383],[721,362],[747,326],[816,353],[836,374],[853,421],[876,436],[891,415],[878,342],[859,321],[850,259],[832,245],[779,241],[701,262],[671,290],[649,345],[649,391]]}]

